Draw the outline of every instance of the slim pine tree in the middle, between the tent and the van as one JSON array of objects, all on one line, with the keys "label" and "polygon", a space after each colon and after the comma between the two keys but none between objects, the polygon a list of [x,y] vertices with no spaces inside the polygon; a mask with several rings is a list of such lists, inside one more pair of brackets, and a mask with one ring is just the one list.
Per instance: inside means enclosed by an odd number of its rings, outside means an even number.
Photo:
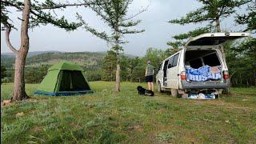
[{"label": "slim pine tree in the middle, between the tent and the van", "polygon": [[112,50],[114,50],[117,55],[115,92],[120,91],[120,51],[122,50],[121,45],[126,43],[122,38],[125,34],[137,34],[144,31],[129,29],[132,26],[137,26],[138,23],[141,22],[140,20],[134,21],[132,19],[144,11],[141,10],[138,14],[128,17],[127,10],[132,2],[133,0],[96,0],[95,5],[90,6],[90,8],[110,27],[110,34],[98,32],[98,30],[91,28],[78,14],[78,19],[84,24],[85,29],[99,38],[104,39],[106,42],[109,42],[112,45]]}]

